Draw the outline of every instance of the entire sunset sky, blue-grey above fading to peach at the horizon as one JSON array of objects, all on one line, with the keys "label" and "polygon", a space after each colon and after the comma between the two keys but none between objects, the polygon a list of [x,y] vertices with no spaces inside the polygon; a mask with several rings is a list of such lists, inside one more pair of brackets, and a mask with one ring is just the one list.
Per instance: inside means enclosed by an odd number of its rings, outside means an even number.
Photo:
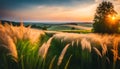
[{"label": "entire sunset sky, blue-grey above fading to peach at the horizon", "polygon": [[[0,0],[0,20],[91,22],[103,0]],[[120,0],[111,1],[120,15]]]}]

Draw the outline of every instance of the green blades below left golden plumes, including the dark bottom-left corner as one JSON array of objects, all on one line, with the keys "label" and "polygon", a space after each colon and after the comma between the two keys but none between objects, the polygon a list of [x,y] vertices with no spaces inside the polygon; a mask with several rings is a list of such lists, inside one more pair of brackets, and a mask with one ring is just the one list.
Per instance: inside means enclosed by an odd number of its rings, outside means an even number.
[{"label": "green blades below left golden plumes, including the dark bottom-left corner", "polygon": [[[46,41],[46,39],[43,39]],[[16,47],[18,53],[17,61],[13,58],[12,55],[1,55],[1,64],[2,69],[39,69],[43,67],[44,59],[39,56],[39,47],[42,45],[42,42],[31,43],[30,40],[17,40]],[[12,59],[13,58],[13,59]]]}]

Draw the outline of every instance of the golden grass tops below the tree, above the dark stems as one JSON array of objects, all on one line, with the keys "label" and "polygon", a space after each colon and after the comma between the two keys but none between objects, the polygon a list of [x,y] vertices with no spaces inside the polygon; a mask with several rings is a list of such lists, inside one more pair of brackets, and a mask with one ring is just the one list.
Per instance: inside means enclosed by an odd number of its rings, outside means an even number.
[{"label": "golden grass tops below the tree, above the dark stems", "polygon": [[[118,49],[120,48],[120,35],[100,35],[100,34],[74,34],[74,33],[60,33],[55,34],[53,38],[57,40],[62,40],[62,42],[66,44],[71,44],[74,46],[75,43],[80,44],[82,46],[82,50],[87,49],[91,52],[91,49],[96,51],[96,53],[102,57],[105,56],[108,52],[108,49],[111,49],[113,52],[114,62],[120,59],[120,54],[118,53]],[[102,51],[100,52],[98,49],[101,46]]]}]

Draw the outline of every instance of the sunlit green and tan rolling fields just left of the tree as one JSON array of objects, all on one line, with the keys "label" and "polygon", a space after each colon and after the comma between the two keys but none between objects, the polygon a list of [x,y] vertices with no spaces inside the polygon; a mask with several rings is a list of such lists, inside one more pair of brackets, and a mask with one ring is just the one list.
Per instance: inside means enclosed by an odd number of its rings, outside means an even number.
[{"label": "sunlit green and tan rolling fields just left of the tree", "polygon": [[48,31],[59,31],[68,33],[91,33],[92,24],[79,25],[53,25],[47,28]]}]

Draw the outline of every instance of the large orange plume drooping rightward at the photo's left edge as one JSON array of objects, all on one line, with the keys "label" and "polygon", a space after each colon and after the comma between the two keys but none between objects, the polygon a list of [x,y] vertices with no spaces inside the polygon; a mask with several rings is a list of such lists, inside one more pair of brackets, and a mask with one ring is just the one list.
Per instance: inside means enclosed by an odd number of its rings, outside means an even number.
[{"label": "large orange plume drooping rightward at the photo's left edge", "polygon": [[0,29],[0,53],[11,55],[14,58],[18,58],[16,46],[9,35],[6,34],[5,30]]}]

